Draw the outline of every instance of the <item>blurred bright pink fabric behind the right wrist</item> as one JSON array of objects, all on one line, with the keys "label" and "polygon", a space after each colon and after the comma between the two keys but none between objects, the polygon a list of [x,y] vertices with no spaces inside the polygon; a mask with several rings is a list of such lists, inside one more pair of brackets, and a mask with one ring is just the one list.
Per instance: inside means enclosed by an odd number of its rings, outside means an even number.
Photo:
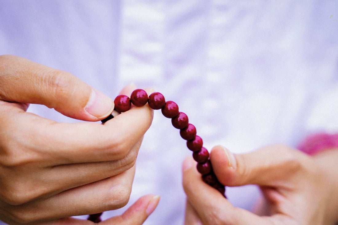
[{"label": "blurred bright pink fabric behind the right wrist", "polygon": [[318,133],[308,136],[298,147],[300,151],[309,155],[333,148],[338,148],[338,133]]}]

